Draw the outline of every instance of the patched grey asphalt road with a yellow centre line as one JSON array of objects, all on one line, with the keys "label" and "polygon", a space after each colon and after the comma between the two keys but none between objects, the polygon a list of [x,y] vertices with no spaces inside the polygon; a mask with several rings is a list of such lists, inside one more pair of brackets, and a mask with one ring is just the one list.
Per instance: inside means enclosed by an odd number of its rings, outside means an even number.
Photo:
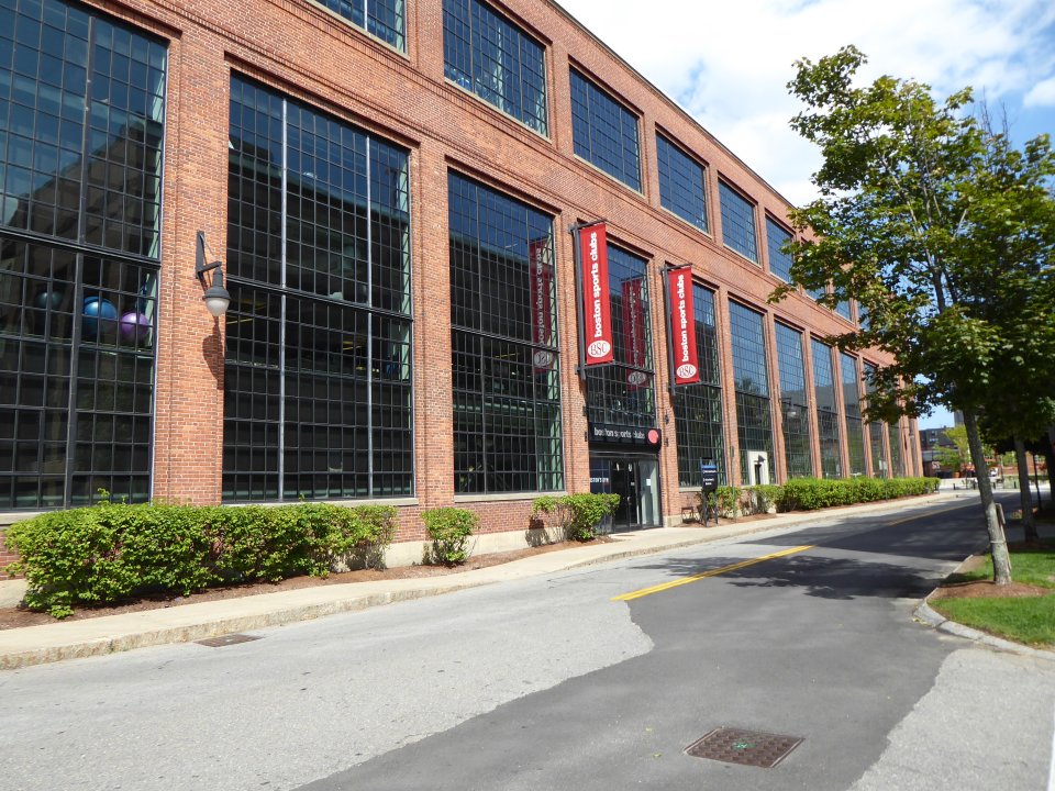
[{"label": "patched grey asphalt road with a yellow centre line", "polygon": [[[984,539],[976,504],[949,508],[819,522],[221,649],[5,673],[0,777],[27,790],[1044,788],[1055,664],[911,619]],[[669,587],[647,592],[657,586]],[[685,755],[719,727],[802,742],[771,769]],[[987,750],[1009,733],[993,777]]]}]

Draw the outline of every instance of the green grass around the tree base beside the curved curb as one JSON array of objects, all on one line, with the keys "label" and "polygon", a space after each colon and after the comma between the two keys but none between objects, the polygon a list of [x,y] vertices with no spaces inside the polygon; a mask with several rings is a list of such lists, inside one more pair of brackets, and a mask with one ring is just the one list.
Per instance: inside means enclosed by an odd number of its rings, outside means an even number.
[{"label": "green grass around the tree base beside the curved curb", "polygon": [[[931,606],[951,621],[1034,646],[1055,646],[1055,542],[1037,549],[1011,552],[1011,576],[1015,582],[1050,588],[1035,597],[943,598]],[[992,579],[992,561],[964,573],[952,575],[947,582],[978,582]]]}]

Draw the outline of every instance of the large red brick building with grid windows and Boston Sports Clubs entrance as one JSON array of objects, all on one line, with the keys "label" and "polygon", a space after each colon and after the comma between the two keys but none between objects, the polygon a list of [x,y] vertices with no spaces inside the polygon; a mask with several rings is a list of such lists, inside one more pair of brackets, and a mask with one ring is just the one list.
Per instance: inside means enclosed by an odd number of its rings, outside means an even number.
[{"label": "large red brick building with grid windows and Boston Sports Clubs entrance", "polygon": [[543,492],[679,521],[704,460],[918,475],[823,343],[854,305],[767,304],[787,208],[548,0],[0,0],[0,521],[459,504],[498,547]]}]

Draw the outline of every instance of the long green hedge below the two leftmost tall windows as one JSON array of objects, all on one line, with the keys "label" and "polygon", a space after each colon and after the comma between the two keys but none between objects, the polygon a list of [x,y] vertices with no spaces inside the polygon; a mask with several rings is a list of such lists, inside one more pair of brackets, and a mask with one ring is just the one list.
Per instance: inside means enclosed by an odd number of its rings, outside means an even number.
[{"label": "long green hedge below the two leftmost tall windows", "polygon": [[56,617],[77,604],[188,595],[209,586],[325,576],[338,562],[380,566],[396,509],[324,503],[277,508],[100,502],[12,525],[25,602]]}]

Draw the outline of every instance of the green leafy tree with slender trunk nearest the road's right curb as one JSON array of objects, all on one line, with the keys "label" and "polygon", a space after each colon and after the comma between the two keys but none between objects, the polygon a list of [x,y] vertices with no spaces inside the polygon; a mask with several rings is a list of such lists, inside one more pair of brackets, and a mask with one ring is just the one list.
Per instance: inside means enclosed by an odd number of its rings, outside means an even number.
[{"label": "green leafy tree with slender trunk nearest the road's right curb", "polygon": [[[1050,293],[1055,155],[1046,136],[1018,151],[992,133],[968,113],[970,89],[939,101],[928,86],[888,76],[857,87],[864,63],[844,47],[798,62],[788,83],[806,104],[791,125],[823,155],[813,176],[820,197],[792,212],[802,233],[790,245],[792,279],[808,289],[830,283],[822,304],[854,299],[867,313],[867,328],[832,338],[840,348],[895,356],[877,371],[869,420],[936,404],[963,412],[993,577],[1006,584],[978,417],[992,405],[999,366],[1022,350],[1008,293],[1029,292],[1031,282],[1033,293]],[[1030,304],[1040,310],[1039,300]]]}]

